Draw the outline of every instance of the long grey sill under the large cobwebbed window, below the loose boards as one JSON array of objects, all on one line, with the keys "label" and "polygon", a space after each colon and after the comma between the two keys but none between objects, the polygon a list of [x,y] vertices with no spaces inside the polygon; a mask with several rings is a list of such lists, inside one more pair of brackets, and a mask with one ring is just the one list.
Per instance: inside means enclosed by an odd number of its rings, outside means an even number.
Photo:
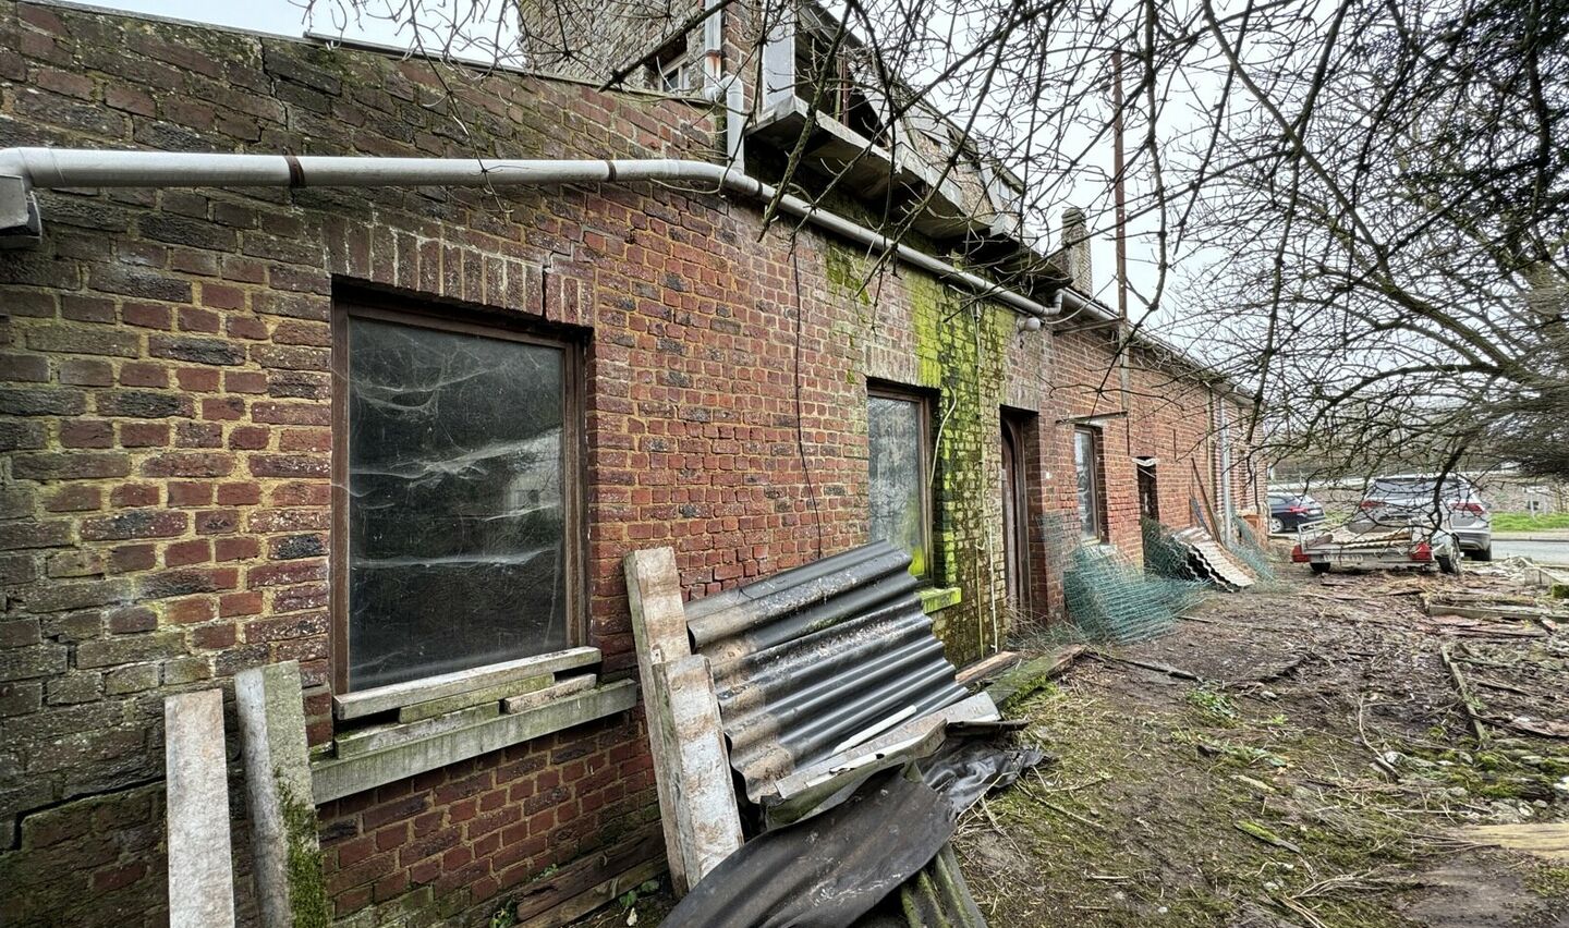
[{"label": "long grey sill under the large cobwebbed window, below the loose boards", "polygon": [[322,804],[529,738],[626,712],[634,705],[637,705],[637,683],[617,680],[530,712],[502,715],[362,757],[315,763],[311,767],[311,793],[317,804]]}]

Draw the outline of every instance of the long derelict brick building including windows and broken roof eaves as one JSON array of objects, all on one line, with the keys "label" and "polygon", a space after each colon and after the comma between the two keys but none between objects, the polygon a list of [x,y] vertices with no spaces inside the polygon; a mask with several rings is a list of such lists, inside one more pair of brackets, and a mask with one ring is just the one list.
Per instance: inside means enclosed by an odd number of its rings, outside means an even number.
[{"label": "long derelict brick building including windows and broken roof eaves", "polygon": [[[725,99],[763,116],[736,132],[687,92],[748,28],[736,5],[640,64],[632,83],[664,91],[601,92],[0,0],[0,149],[725,163],[739,146],[766,179],[781,140],[816,132],[810,169],[833,171],[865,129],[854,107],[811,122],[742,74]],[[602,47],[626,63],[646,39]],[[957,207],[910,238],[932,260],[1026,248],[999,166],[915,174]],[[290,660],[319,763],[351,790],[317,793],[337,919],[576,911],[659,854],[623,683],[626,552],[673,547],[700,597],[890,538],[967,663],[1059,616],[1076,546],[1138,561],[1141,505],[1186,525],[1194,498],[1258,497],[1240,400],[1159,345],[1119,353],[1083,245],[1004,298],[810,223],[766,227],[759,199],[712,185],[31,193],[41,238],[0,251],[6,925],[162,923],[163,699]],[[1045,324],[1018,309],[1064,299],[1078,309]],[[380,774],[334,754],[353,727],[334,694],[570,646],[595,649],[606,694],[559,730]]]}]

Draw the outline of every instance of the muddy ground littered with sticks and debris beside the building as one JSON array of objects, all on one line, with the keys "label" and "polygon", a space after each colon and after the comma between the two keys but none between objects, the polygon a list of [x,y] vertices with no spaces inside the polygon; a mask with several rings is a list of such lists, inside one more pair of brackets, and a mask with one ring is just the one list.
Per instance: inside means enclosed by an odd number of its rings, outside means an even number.
[{"label": "muddy ground littered with sticks and debris beside the building", "polygon": [[1569,926],[1569,853],[1472,831],[1569,820],[1569,622],[1486,614],[1552,605],[1508,566],[1280,572],[1009,713],[1054,760],[960,823],[992,925]]}]

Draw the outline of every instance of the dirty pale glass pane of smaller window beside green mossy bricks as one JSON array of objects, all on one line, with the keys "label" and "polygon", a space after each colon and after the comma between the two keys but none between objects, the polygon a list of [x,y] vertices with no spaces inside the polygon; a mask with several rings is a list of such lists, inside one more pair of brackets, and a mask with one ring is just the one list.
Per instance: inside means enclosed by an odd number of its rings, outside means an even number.
[{"label": "dirty pale glass pane of smaller window beside green mossy bricks", "polygon": [[868,397],[871,538],[910,552],[910,572],[926,575],[926,467],[921,403]]}]

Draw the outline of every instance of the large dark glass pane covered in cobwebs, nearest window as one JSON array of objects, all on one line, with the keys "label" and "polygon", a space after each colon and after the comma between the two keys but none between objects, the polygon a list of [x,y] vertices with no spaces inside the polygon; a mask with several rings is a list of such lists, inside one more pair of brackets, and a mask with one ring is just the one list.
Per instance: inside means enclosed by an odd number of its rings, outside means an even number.
[{"label": "large dark glass pane covered in cobwebs, nearest window", "polygon": [[566,646],[560,348],[348,320],[351,690]]}]

